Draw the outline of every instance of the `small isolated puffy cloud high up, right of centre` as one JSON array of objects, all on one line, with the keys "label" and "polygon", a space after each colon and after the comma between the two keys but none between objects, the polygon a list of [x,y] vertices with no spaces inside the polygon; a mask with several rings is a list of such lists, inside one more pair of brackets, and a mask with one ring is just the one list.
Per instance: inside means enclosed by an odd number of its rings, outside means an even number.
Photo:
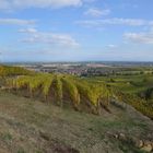
[{"label": "small isolated puffy cloud high up, right of centre", "polygon": [[110,13],[110,10],[99,10],[99,9],[89,9],[86,12],[84,12],[85,15],[99,17],[102,15],[108,15]]}]

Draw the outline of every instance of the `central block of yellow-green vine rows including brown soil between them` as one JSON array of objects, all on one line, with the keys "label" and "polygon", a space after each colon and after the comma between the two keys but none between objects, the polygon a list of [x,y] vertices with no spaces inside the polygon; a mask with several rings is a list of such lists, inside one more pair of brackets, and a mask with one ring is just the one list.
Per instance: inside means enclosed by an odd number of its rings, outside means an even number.
[{"label": "central block of yellow-green vine rows including brown soil between them", "polygon": [[76,110],[99,114],[101,108],[108,110],[111,96],[105,84],[93,84],[83,79],[63,74],[16,76],[7,80],[8,87],[16,93],[23,91],[30,97],[64,106],[69,102]]}]

